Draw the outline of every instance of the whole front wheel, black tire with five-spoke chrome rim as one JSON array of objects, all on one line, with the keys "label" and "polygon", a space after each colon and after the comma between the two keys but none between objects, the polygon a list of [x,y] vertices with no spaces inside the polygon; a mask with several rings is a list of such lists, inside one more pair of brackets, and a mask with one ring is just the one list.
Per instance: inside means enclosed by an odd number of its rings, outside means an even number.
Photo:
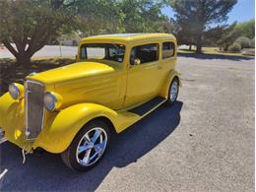
[{"label": "whole front wheel, black tire with five-spoke chrome rim", "polygon": [[61,154],[63,162],[77,171],[87,171],[102,160],[109,145],[109,129],[100,120],[85,125]]}]

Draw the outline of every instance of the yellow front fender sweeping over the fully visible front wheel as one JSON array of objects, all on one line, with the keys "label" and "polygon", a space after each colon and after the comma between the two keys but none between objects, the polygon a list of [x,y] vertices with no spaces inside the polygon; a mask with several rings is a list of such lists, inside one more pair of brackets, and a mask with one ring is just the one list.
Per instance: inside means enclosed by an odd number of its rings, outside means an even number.
[{"label": "yellow front fender sweeping over the fully visible front wheel", "polygon": [[[45,122],[45,127],[32,144],[32,148],[43,148],[50,153],[62,153],[73,141],[79,130],[96,117],[109,119],[117,133],[136,122],[140,117],[128,112],[118,113],[96,103],[81,103],[53,114]],[[52,114],[51,114],[52,115]]]}]

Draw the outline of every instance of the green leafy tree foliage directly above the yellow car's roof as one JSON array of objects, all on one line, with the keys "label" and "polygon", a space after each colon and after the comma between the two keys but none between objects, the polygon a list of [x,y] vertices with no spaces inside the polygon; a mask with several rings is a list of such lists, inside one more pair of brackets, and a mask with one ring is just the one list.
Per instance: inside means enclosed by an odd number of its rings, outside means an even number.
[{"label": "green leafy tree foliage directly above the yellow car's roof", "polygon": [[113,32],[164,32],[168,18],[156,0],[87,0],[78,6],[85,35]]}]

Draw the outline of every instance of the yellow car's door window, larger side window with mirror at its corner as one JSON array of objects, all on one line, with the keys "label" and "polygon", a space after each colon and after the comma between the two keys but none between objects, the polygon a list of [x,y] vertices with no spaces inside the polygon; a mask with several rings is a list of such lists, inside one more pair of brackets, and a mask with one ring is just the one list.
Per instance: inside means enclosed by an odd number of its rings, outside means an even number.
[{"label": "yellow car's door window, larger side window with mirror at its corner", "polygon": [[140,64],[159,60],[158,43],[144,44],[135,46],[131,50],[130,64],[134,65],[135,61]]}]

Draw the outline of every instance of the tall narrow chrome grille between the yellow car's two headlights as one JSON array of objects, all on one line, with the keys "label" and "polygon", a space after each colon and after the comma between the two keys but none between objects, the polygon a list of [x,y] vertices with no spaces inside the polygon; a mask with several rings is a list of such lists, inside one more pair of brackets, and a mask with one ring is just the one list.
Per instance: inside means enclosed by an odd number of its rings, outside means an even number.
[{"label": "tall narrow chrome grille between the yellow car's two headlights", "polygon": [[42,129],[44,87],[40,83],[27,81],[25,88],[26,139],[32,140]]}]

